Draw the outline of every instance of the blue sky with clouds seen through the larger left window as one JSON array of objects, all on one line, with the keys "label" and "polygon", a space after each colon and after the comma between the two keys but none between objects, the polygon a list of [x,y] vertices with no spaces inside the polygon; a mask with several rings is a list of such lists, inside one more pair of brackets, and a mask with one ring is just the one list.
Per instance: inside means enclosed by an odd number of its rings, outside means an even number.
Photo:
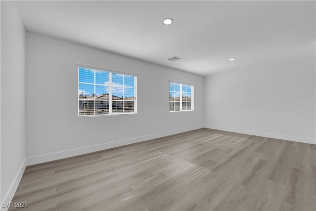
[{"label": "blue sky with clouds seen through the larger left window", "polygon": [[[79,94],[97,96],[109,94],[110,73],[106,71],[95,71],[94,91],[94,70],[79,67]],[[112,73],[112,95],[118,97],[134,96],[134,76]]]}]

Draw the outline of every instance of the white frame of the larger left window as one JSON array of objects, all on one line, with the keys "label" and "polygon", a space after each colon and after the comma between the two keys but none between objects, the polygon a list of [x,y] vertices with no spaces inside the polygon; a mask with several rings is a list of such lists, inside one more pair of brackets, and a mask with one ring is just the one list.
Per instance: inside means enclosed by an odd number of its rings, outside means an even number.
[{"label": "white frame of the larger left window", "polygon": [[[79,115],[79,68],[86,68],[89,70],[94,70],[94,71],[104,71],[104,72],[109,72],[109,114],[96,114],[96,100],[94,100],[94,115]],[[94,86],[96,84],[95,80],[96,80],[96,76],[95,76],[94,72]],[[134,76],[134,112],[119,112],[119,113],[113,113],[112,111],[112,73],[118,73],[118,74],[122,74],[122,75],[127,75],[127,76]],[[132,73],[126,73],[126,72],[120,72],[120,71],[113,71],[113,70],[109,70],[109,69],[104,69],[104,68],[97,68],[97,67],[91,67],[91,66],[86,66],[86,65],[77,65],[77,74],[78,74],[78,89],[77,89],[77,103],[78,103],[78,117],[100,117],[100,116],[115,116],[115,115],[128,115],[128,114],[137,114],[137,78],[138,76],[136,74],[132,74]],[[124,78],[123,78],[124,80]],[[82,83],[81,83],[82,84]],[[95,91],[94,91],[95,93]],[[124,99],[124,98],[123,98]],[[123,100],[124,102],[124,100]]]}]

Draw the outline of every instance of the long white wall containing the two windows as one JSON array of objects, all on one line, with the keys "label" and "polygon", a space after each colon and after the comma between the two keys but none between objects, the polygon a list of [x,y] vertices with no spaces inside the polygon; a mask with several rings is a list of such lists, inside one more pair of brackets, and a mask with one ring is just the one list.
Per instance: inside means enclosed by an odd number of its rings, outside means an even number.
[{"label": "long white wall containing the two windows", "polygon": [[[26,56],[28,165],[203,127],[201,76],[30,32]],[[77,64],[137,74],[138,114],[78,118]],[[195,111],[169,113],[169,80],[195,85]]]}]

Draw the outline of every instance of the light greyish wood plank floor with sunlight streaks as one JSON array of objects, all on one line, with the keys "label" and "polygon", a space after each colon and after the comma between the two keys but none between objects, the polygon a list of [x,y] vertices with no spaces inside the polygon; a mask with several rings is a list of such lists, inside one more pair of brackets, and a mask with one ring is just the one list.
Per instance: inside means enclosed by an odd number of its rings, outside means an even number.
[{"label": "light greyish wood plank floor with sunlight streaks", "polygon": [[315,211],[315,178],[316,145],[202,128],[27,167],[13,203],[27,202],[25,211]]}]

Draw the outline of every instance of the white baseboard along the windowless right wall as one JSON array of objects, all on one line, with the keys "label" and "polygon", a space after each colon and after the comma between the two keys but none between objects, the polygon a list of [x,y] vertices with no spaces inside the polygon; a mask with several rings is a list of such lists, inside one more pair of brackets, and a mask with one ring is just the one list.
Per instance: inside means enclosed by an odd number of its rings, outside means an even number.
[{"label": "white baseboard along the windowless right wall", "polygon": [[296,141],[296,142],[302,142],[302,143],[308,143],[308,144],[316,144],[316,139],[313,139],[313,138],[306,138],[306,137],[299,137],[299,136],[292,136],[292,135],[282,135],[282,134],[260,132],[260,131],[253,131],[253,130],[245,130],[245,129],[232,128],[232,127],[219,127],[219,126],[212,126],[212,125],[204,125],[204,127],[209,128],[209,129],[218,129],[218,130],[237,132],[237,133],[243,133],[243,134],[248,134],[248,135],[257,135],[257,136],[263,136],[263,137],[268,137],[268,138],[282,139],[282,140],[287,140],[287,141]]}]

